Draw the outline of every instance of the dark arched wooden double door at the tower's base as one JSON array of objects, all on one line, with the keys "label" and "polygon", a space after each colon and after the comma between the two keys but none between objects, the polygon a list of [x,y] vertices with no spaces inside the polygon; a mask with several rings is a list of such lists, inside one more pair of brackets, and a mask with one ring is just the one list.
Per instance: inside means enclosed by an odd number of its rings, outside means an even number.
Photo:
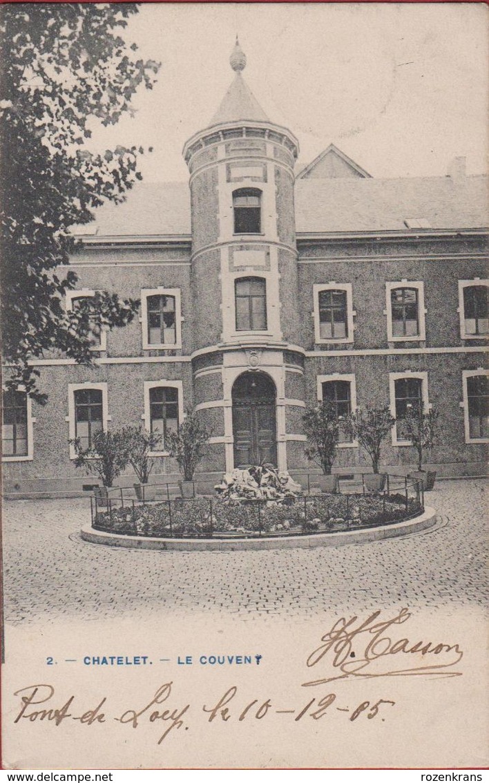
[{"label": "dark arched wooden double door at the tower's base", "polygon": [[275,384],[268,375],[247,372],[232,387],[234,467],[277,464]]}]

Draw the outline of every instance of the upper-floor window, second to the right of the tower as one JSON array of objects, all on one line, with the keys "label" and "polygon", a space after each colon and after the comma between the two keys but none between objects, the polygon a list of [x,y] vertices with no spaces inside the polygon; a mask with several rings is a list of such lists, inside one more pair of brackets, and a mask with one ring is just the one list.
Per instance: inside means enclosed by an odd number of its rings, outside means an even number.
[{"label": "upper-floor window, second to the right of the tower", "polygon": [[[403,283],[406,283],[403,285]],[[425,307],[421,282],[386,283],[387,340],[424,340]]]}]

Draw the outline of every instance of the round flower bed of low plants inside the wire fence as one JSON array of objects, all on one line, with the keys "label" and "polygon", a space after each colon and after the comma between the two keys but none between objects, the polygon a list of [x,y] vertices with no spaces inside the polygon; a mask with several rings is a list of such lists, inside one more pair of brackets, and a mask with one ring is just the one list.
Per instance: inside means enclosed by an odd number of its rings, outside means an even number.
[{"label": "round flower bed of low plants inside the wire fence", "polygon": [[93,527],[158,538],[286,536],[389,525],[421,512],[412,498],[406,508],[403,495],[288,496],[281,502],[177,499],[111,508],[96,514]]}]

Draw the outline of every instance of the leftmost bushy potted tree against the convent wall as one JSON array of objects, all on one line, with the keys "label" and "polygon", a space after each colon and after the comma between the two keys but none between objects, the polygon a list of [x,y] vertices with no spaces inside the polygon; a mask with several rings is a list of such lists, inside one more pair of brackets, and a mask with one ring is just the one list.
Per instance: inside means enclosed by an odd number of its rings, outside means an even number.
[{"label": "leftmost bushy potted tree against the convent wall", "polygon": [[100,505],[107,505],[108,490],[128,465],[129,453],[127,438],[120,431],[104,432],[98,430],[92,435],[92,446],[84,449],[80,438],[70,440],[76,453],[75,467],[84,467],[88,473],[99,476],[102,488],[95,488],[95,496]]}]

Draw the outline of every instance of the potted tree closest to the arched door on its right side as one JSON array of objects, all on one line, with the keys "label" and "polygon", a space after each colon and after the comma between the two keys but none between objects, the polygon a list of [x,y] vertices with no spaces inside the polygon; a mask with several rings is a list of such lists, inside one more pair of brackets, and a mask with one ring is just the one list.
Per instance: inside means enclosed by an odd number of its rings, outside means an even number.
[{"label": "potted tree closest to the arched door on its right side", "polygon": [[314,461],[322,469],[322,476],[318,478],[319,487],[322,492],[336,493],[338,477],[332,475],[331,470],[343,419],[338,417],[333,402],[323,400],[317,406],[307,408],[302,420],[309,442],[309,446],[305,449],[307,459]]}]

